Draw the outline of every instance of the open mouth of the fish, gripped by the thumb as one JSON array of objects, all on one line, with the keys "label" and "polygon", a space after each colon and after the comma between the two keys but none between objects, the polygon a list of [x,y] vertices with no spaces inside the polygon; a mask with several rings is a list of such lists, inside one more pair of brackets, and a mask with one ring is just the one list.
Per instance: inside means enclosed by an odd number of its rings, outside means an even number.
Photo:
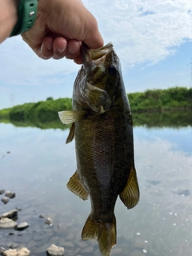
[{"label": "open mouth of the fish, gripped by the thumb", "polygon": [[105,61],[105,56],[112,53],[114,50],[114,46],[112,42],[109,42],[106,44],[106,46],[102,46],[98,49],[92,49],[90,50],[88,46],[84,42],[82,42],[82,48],[81,48],[81,53],[82,53],[82,61],[84,66],[88,66],[92,61],[97,61],[99,60],[100,62]]}]

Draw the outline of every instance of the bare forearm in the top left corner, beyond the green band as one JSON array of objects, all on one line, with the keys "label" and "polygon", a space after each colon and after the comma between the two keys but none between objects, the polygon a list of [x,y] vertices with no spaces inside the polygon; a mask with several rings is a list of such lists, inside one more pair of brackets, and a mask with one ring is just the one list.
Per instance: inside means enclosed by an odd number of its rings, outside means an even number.
[{"label": "bare forearm in the top left corner, beyond the green band", "polygon": [[0,43],[10,36],[18,21],[18,0],[1,0]]}]

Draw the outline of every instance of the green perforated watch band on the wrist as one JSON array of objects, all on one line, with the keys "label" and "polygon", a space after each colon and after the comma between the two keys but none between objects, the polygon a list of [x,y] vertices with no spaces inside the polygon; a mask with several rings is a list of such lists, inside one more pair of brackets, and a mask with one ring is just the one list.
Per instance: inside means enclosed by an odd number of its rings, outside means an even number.
[{"label": "green perforated watch band on the wrist", "polygon": [[19,0],[18,22],[14,26],[10,37],[22,34],[34,26],[34,21],[38,11],[38,0]]}]

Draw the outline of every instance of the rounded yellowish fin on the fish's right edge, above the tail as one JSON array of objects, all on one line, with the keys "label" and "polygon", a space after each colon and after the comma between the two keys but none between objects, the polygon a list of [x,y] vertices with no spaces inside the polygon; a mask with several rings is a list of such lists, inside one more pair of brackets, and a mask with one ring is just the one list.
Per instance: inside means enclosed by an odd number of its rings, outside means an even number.
[{"label": "rounded yellowish fin on the fish's right edge, above the tail", "polygon": [[134,167],[130,170],[130,177],[126,182],[126,186],[119,195],[124,205],[128,208],[134,208],[139,200],[138,178]]}]

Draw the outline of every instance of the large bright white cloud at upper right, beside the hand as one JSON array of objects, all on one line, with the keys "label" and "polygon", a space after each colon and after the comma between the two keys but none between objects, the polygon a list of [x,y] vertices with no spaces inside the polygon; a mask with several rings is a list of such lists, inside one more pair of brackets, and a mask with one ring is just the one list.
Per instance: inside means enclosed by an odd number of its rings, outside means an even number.
[{"label": "large bright white cloud at upper right, beside the hand", "polygon": [[86,2],[98,17],[106,42],[113,41],[123,66],[158,62],[192,39],[192,2],[188,0]]}]

